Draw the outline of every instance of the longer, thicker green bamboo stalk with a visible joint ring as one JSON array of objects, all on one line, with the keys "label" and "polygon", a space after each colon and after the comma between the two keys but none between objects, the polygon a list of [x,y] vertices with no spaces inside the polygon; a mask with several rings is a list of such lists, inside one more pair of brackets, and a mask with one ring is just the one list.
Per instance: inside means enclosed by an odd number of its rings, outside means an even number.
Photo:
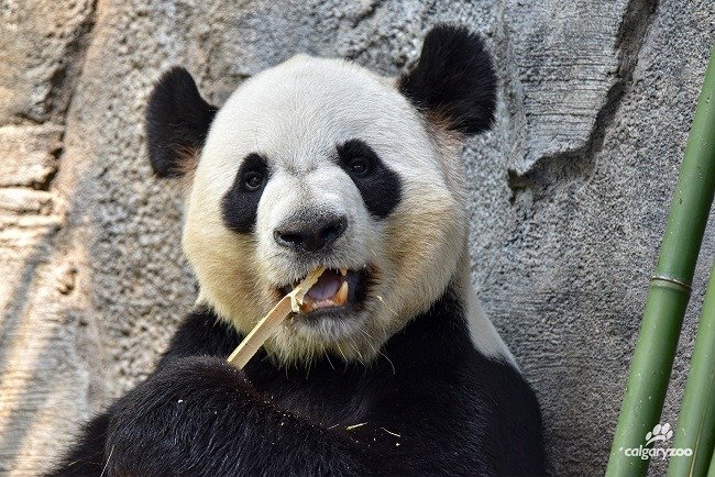
[{"label": "longer, thicker green bamboo stalk with a visible joint ring", "polygon": [[[715,53],[715,52],[714,52]],[[648,459],[625,450],[646,444],[660,419],[695,262],[715,191],[715,54],[688,138],[668,225],[630,364],[606,476],[642,476]]]}]

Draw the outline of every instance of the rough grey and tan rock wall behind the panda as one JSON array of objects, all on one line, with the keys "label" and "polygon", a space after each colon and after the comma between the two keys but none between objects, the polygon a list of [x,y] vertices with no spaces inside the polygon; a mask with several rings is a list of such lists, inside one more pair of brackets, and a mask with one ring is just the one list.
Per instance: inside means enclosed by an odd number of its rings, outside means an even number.
[{"label": "rough grey and tan rock wall behind the panda", "polygon": [[[196,293],[178,185],[151,177],[152,82],[221,103],[295,53],[409,66],[430,25],[501,77],[465,151],[474,281],[536,387],[557,475],[602,474],[697,92],[710,0],[12,0],[0,8],[0,473],[46,468],[152,368]],[[705,237],[663,421],[675,423]],[[653,475],[662,464],[651,466]]]}]

